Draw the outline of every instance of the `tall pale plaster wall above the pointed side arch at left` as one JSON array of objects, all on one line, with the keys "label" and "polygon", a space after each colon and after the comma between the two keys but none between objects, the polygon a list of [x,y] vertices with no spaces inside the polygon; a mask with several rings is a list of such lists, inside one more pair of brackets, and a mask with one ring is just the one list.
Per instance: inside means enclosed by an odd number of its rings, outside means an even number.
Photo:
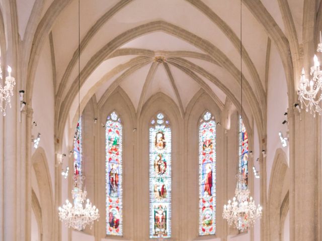
[{"label": "tall pale plaster wall above the pointed side arch at left", "polygon": [[[27,103],[28,104],[28,103]],[[37,137],[40,133],[39,147],[45,150],[48,168],[54,193],[55,173],[55,149],[54,149],[54,86],[52,81],[52,69],[50,58],[49,40],[46,41],[40,55],[36,70],[32,98],[33,121],[37,127],[33,127],[32,135]],[[35,149],[32,149],[32,153]]]}]

